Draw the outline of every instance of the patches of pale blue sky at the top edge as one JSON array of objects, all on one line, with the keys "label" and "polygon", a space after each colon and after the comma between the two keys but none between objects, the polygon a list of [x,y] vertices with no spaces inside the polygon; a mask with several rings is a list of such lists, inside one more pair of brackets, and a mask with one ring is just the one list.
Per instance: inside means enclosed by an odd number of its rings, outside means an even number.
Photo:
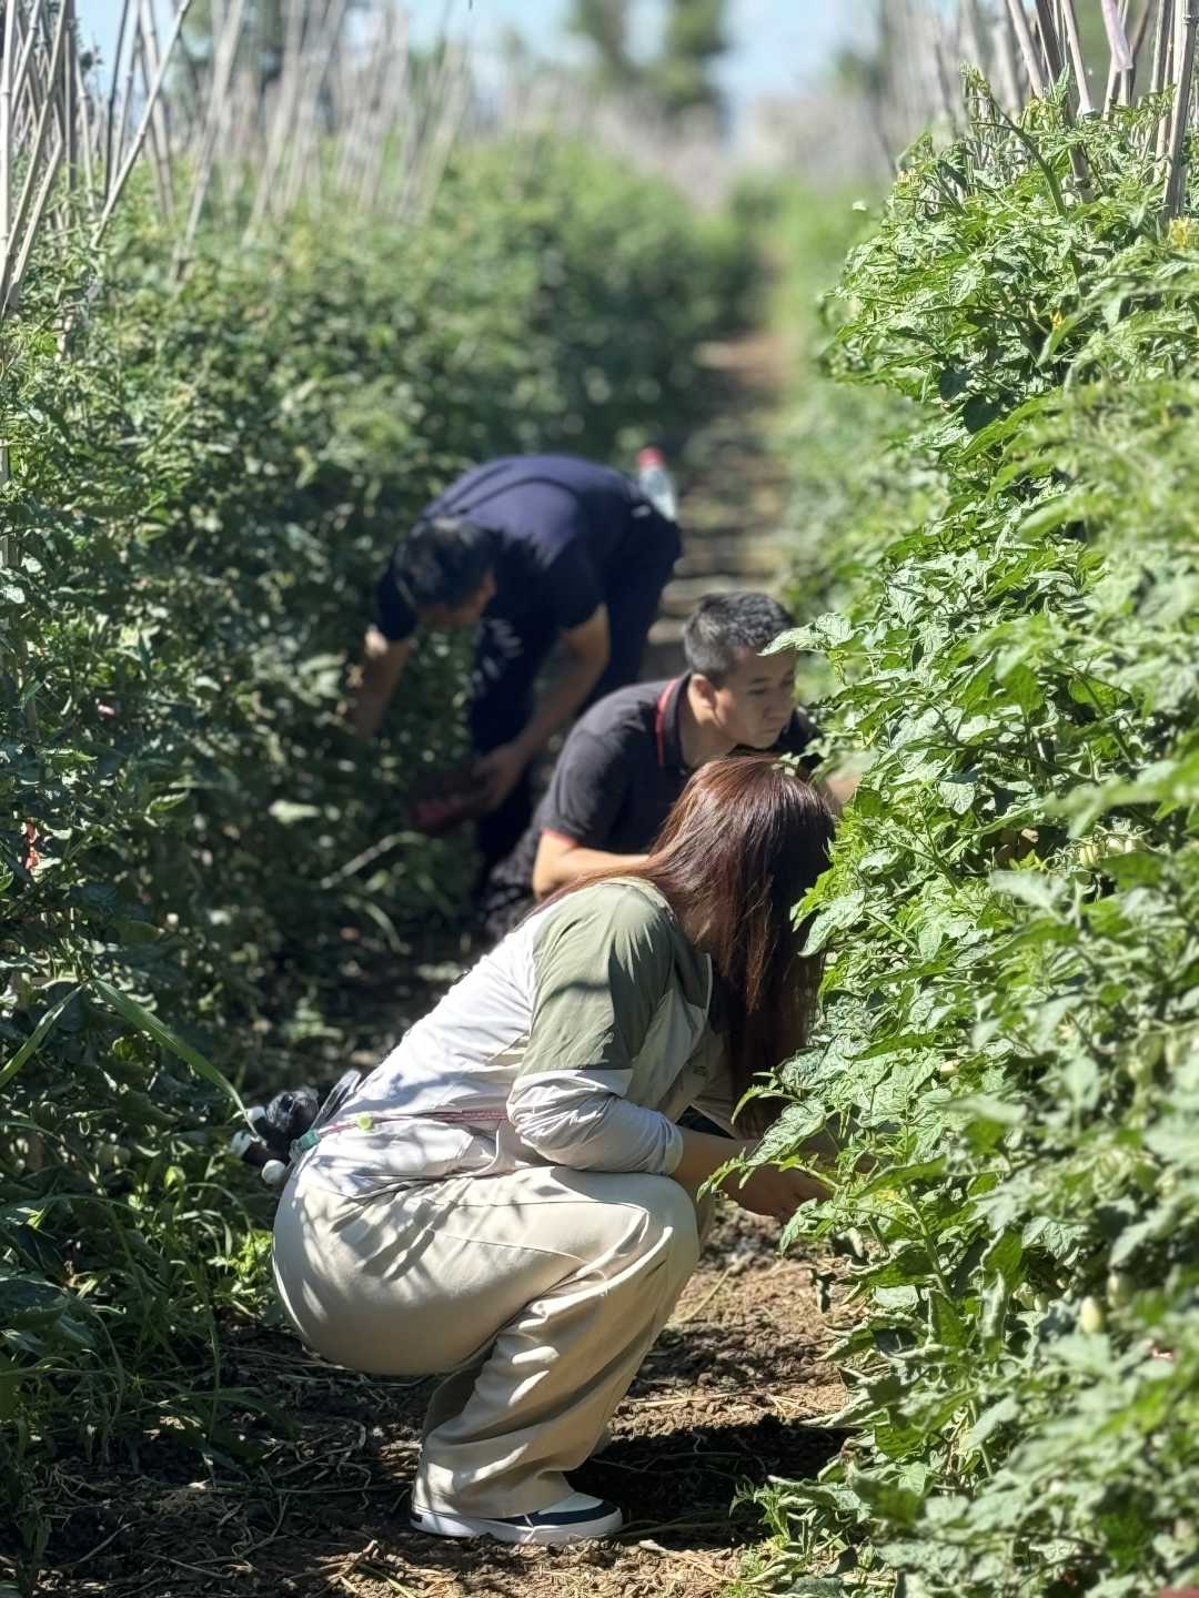
[{"label": "patches of pale blue sky at the top edge", "polygon": [[[569,0],[414,0],[414,30],[436,35],[449,14],[449,30],[488,50],[504,27],[520,29],[537,53],[569,48],[563,19]],[[723,83],[735,105],[758,94],[788,93],[811,81],[828,53],[850,37],[870,8],[862,0],[729,0],[734,48],[723,66]],[[652,42],[660,0],[635,0],[636,38]],[[94,37],[110,56],[120,0],[78,0],[85,38]]]}]

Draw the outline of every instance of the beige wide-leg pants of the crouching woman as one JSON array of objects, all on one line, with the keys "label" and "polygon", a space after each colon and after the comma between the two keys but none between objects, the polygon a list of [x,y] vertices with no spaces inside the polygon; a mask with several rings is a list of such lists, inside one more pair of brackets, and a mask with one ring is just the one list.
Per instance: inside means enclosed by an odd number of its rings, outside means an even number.
[{"label": "beige wide-leg pants of the crouching woman", "polygon": [[452,1373],[414,1494],[475,1517],[571,1491],[563,1473],[595,1448],[697,1258],[691,1195],[636,1173],[547,1167],[345,1198],[301,1171],[275,1221],[275,1282],[312,1349],[372,1374]]}]

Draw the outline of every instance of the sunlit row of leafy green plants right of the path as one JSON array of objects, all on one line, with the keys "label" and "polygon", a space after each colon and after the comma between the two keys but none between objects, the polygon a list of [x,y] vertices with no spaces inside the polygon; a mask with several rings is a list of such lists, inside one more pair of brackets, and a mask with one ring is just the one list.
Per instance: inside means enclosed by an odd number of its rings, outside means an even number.
[{"label": "sunlit row of leafy green plants right of the path", "polygon": [[868,769],[771,1152],[841,1128],[788,1240],[858,1314],[755,1580],[1140,1598],[1199,1580],[1199,233],[1157,102],[970,99],[825,300],[828,515],[798,473],[793,641]]}]

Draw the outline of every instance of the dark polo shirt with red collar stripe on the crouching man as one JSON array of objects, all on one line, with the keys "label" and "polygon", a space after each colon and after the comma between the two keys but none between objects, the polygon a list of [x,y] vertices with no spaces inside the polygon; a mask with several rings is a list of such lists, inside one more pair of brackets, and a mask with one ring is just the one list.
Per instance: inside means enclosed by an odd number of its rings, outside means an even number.
[{"label": "dark polo shirt with red collar stripe on the crouching man", "polygon": [[[687,678],[617,689],[582,716],[563,745],[532,825],[491,873],[483,895],[488,933],[508,932],[532,903],[532,868],[542,833],[582,849],[641,855],[691,777],[683,764],[679,716]],[[774,745],[804,759],[817,729],[796,710]]]}]

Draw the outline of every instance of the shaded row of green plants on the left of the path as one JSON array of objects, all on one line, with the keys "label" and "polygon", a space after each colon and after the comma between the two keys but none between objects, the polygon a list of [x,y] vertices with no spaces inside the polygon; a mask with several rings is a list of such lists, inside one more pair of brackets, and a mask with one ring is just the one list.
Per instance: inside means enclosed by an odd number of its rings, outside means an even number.
[{"label": "shaded row of green plants on the left of the path", "polygon": [[222,1336],[261,1302],[265,1194],[219,1074],[267,1093],[377,1047],[460,914],[470,852],[404,818],[459,753],[460,650],[422,646],[369,746],[344,718],[387,551],[468,462],[627,460],[748,288],[732,230],[544,142],[459,150],[416,229],[333,222],[201,235],[179,281],[144,193],[99,260],[46,241],[3,329],[0,1520],[26,1582],[56,1451],[245,1448]]}]

